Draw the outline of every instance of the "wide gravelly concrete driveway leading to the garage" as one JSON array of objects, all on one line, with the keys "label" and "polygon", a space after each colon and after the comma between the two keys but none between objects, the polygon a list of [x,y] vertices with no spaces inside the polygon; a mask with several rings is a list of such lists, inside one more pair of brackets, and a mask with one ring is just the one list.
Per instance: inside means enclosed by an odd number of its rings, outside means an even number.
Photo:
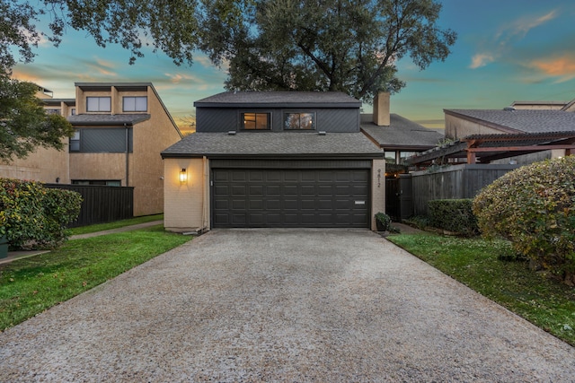
[{"label": "wide gravelly concrete driveway leading to the garage", "polygon": [[0,381],[574,377],[570,345],[371,231],[211,231],[0,334]]}]

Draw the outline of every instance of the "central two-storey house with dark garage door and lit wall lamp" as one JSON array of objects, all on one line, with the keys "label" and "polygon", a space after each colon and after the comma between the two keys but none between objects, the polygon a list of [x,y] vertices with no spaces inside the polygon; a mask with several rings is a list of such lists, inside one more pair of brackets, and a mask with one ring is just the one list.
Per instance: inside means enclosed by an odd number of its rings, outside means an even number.
[{"label": "central two-storey house with dark garage door and lit wall lamp", "polygon": [[164,226],[376,228],[384,152],[341,92],[224,92],[164,152]]}]

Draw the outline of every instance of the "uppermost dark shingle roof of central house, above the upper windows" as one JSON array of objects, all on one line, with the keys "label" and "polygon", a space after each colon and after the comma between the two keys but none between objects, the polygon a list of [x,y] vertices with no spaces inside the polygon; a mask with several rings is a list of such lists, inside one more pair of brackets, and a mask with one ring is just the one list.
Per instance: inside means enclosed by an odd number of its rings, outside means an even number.
[{"label": "uppermost dark shingle roof of central house, above the upper windows", "polygon": [[194,102],[195,107],[335,107],[361,108],[361,101],[341,91],[225,91]]}]

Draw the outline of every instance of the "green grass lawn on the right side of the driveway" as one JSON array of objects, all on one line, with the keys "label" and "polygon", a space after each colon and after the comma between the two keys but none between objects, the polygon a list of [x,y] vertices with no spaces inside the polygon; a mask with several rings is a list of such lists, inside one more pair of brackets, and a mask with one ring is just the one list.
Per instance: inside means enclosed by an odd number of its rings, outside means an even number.
[{"label": "green grass lawn on the right side of the driveway", "polygon": [[575,346],[575,289],[536,273],[526,262],[500,260],[513,254],[509,242],[429,233],[387,239]]}]

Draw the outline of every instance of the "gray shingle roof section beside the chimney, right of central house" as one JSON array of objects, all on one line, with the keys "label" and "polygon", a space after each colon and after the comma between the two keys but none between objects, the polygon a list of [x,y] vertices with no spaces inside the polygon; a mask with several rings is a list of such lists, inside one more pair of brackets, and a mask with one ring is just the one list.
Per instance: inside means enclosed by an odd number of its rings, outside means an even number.
[{"label": "gray shingle roof section beside the chimney, right of central house", "polygon": [[384,149],[429,149],[443,139],[437,130],[420,126],[394,113],[390,115],[390,126],[362,122],[361,130]]}]

